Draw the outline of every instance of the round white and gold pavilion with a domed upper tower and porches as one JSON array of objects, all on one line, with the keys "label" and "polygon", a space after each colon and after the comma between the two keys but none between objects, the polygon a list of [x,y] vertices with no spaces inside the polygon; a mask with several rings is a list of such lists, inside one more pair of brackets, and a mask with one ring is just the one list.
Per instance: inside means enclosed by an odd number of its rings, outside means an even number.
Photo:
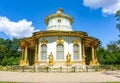
[{"label": "round white and gold pavilion with a domed upper tower and porches", "polygon": [[96,49],[99,40],[86,32],[72,30],[72,16],[58,9],[45,18],[45,31],[21,40],[21,66],[99,65]]}]

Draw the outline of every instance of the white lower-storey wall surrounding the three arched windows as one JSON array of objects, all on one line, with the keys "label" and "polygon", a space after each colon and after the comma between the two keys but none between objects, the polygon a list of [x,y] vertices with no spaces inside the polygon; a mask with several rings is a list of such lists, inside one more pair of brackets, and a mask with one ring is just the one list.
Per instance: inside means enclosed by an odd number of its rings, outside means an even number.
[{"label": "white lower-storey wall surrounding the three arched windows", "polygon": [[[64,60],[66,60],[66,55],[68,54],[68,52],[71,54],[71,60],[73,60],[73,40],[76,39],[76,37],[62,37],[64,40]],[[38,46],[38,61],[41,61],[41,57],[40,57],[40,46],[41,46],[41,40],[43,38],[39,38],[39,46]],[[54,60],[56,60],[56,40],[58,39],[58,37],[44,37],[45,40],[48,41],[47,43],[47,55],[49,56],[50,53],[52,52],[53,56],[54,56]],[[82,48],[81,48],[81,38],[77,38],[79,39],[79,45],[80,45],[80,58],[79,61],[82,61]],[[47,56],[47,57],[48,57]]]}]

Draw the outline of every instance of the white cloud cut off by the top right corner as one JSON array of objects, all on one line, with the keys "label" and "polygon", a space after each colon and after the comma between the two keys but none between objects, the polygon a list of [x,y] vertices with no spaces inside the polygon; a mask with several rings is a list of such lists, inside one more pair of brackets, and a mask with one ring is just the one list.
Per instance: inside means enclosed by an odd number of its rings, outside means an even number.
[{"label": "white cloud cut off by the top right corner", "polygon": [[83,4],[92,9],[102,8],[105,14],[115,14],[120,10],[120,0],[83,0]]}]

